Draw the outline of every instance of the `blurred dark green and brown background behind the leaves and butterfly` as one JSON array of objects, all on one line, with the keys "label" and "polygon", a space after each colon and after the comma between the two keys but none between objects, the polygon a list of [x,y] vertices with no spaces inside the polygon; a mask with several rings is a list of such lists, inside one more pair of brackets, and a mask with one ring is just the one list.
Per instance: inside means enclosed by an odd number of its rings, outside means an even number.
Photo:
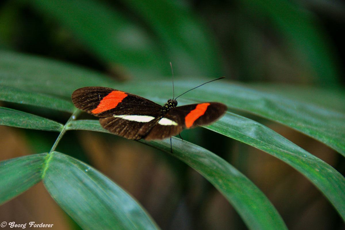
[{"label": "blurred dark green and brown background behind the leaves and butterfly", "polygon": [[[295,99],[315,99],[326,107],[329,100],[344,104],[338,96],[345,83],[344,30],[342,1],[0,3],[1,50],[68,62],[123,82],[171,79],[171,61],[179,80],[226,76],[227,81]],[[63,113],[49,116],[60,122],[68,118]],[[289,128],[246,116],[345,172],[344,159],[334,150]],[[205,138],[210,135],[203,132]],[[0,137],[3,160],[49,151],[56,134],[1,126]],[[183,137],[203,146],[193,131]],[[290,166],[237,141],[224,146],[224,138],[213,137],[214,145],[204,147],[223,154],[248,176],[276,206],[289,229],[345,228],[324,196]],[[224,155],[218,146],[231,151]],[[110,135],[70,131],[60,150],[124,187],[162,229],[246,229],[231,205],[203,177],[150,147]],[[51,222],[56,229],[78,228],[41,183],[0,206],[1,216],[18,223]]]}]

